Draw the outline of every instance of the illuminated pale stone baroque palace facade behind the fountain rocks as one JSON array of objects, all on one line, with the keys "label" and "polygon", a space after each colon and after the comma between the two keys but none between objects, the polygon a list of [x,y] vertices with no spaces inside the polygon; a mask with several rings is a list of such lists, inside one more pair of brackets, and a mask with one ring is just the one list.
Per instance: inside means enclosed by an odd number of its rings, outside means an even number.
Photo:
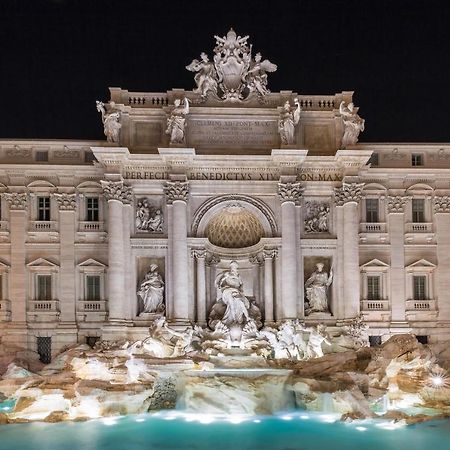
[{"label": "illuminated pale stone baroque palace facade behind the fountain rocks", "polygon": [[106,141],[0,141],[3,342],[212,326],[232,261],[265,324],[450,338],[450,145],[357,143],[352,92],[271,93],[247,38],[216,37],[193,91],[111,88]]}]

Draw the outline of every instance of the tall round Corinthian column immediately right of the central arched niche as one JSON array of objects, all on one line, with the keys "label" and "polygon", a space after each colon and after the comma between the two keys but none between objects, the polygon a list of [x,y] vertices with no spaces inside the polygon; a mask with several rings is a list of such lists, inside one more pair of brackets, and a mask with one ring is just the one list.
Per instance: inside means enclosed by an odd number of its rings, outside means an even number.
[{"label": "tall round Corinthian column immediately right of the central arched niche", "polygon": [[281,201],[281,320],[297,317],[297,236],[295,205],[303,188],[300,183],[279,183]]}]

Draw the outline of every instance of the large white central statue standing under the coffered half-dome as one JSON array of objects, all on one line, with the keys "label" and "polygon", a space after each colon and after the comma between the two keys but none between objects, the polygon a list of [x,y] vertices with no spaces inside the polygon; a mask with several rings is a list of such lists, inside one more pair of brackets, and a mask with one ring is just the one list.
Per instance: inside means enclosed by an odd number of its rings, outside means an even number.
[{"label": "large white central statue standing under the coffered half-dome", "polygon": [[261,312],[244,295],[238,267],[236,261],[231,261],[230,269],[216,277],[215,284],[221,292],[221,298],[216,301],[209,315],[208,324],[212,329],[220,326],[219,322],[231,327],[255,321],[258,327],[261,326]]}]

